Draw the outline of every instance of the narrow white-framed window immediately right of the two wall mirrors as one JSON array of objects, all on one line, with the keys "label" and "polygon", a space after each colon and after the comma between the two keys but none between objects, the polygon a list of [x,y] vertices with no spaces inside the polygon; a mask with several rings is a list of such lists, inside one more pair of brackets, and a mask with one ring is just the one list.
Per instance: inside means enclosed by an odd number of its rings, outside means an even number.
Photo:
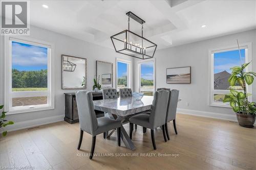
[{"label": "narrow white-framed window immediately right of the two wall mirrors", "polygon": [[116,84],[118,91],[120,88],[130,88],[130,65],[131,61],[129,60],[116,60]]}]

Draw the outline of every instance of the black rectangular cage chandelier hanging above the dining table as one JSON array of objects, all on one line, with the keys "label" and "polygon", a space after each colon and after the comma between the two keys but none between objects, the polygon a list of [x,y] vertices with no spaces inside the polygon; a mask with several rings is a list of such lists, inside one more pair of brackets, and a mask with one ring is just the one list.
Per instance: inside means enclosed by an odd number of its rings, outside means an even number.
[{"label": "black rectangular cage chandelier hanging above the dining table", "polygon": [[[153,58],[157,44],[143,37],[143,24],[145,21],[131,11],[127,12],[126,15],[129,17],[128,30],[111,36],[115,51],[139,59]],[[141,36],[130,31],[130,17],[141,24]]]}]

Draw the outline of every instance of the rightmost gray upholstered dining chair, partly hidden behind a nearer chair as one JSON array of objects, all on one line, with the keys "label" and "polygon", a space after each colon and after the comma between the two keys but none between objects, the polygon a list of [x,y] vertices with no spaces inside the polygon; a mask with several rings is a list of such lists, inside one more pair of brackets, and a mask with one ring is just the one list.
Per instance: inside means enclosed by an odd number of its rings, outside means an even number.
[{"label": "rightmost gray upholstered dining chair, partly hidden behind a nearer chair", "polygon": [[170,90],[168,108],[167,108],[167,114],[166,114],[166,123],[165,123],[165,132],[168,140],[170,140],[168,125],[167,125],[168,122],[173,120],[175,133],[178,134],[177,128],[176,128],[176,112],[177,112],[178,100],[179,100],[179,90],[175,90],[175,89]]}]

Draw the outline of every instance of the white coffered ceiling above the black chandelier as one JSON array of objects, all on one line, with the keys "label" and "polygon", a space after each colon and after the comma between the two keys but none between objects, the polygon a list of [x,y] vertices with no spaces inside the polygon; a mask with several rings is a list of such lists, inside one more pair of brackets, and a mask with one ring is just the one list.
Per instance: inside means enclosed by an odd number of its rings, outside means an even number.
[{"label": "white coffered ceiling above the black chandelier", "polygon": [[[127,29],[129,11],[146,21],[144,37],[158,49],[256,28],[255,1],[31,1],[30,6],[31,25],[111,48],[110,36]],[[141,25],[130,23],[140,34]]]}]

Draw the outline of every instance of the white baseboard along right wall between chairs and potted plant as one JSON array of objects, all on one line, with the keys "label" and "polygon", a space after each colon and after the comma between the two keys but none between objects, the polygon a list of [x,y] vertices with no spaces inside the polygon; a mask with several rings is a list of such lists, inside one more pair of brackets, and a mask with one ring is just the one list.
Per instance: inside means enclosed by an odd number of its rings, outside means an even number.
[{"label": "white baseboard along right wall between chairs and potted plant", "polygon": [[177,109],[177,113],[237,121],[236,114],[222,114],[222,113],[206,112],[206,111],[199,111],[199,110],[189,110],[189,109]]}]

